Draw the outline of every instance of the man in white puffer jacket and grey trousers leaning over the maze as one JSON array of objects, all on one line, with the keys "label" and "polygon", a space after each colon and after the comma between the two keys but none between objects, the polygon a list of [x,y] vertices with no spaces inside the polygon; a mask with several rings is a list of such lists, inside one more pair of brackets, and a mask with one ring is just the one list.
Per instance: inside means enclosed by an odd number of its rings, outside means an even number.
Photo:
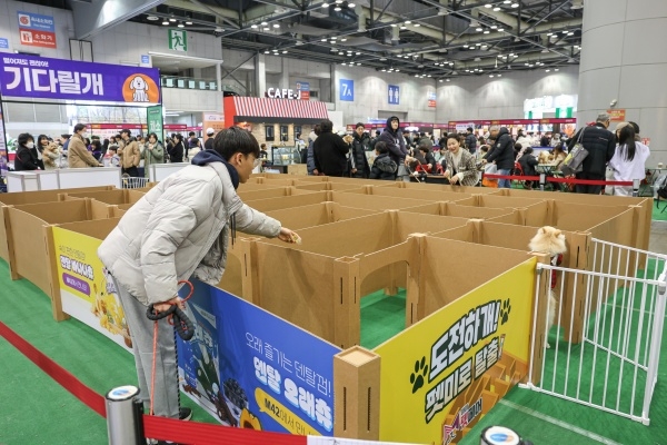
[{"label": "man in white puffer jacket and grey trousers leaning over the maze", "polygon": [[[111,274],[132,336],[140,394],[150,399],[153,322],[147,306],[161,313],[183,304],[179,280],[218,285],[225,273],[229,233],[235,230],[295,243],[298,235],[245,205],[236,192],[259,162],[259,145],[248,131],[220,131],[213,150],[160,181],[135,204],[98,249]],[[160,322],[156,352],[155,415],[189,418],[179,406],[173,327]]]}]

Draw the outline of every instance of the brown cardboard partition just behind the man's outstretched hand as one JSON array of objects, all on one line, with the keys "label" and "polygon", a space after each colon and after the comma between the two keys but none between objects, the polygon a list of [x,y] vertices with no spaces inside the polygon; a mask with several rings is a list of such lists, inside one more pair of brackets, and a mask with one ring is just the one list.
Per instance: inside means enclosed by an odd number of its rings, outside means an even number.
[{"label": "brown cardboard partition just behind the man's outstretched hand", "polygon": [[338,202],[326,201],[293,209],[267,211],[271,218],[278,219],[283,227],[292,230],[306,227],[321,226],[322,224],[337,222],[345,219],[359,218],[374,215],[379,210],[365,210],[360,208],[345,207]]}]

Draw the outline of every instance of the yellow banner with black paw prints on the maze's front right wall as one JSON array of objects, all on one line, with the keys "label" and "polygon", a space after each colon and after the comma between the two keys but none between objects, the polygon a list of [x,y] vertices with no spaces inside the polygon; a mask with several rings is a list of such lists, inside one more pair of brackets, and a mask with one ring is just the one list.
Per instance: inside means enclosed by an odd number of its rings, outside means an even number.
[{"label": "yellow banner with black paw prints on the maze's front right wall", "polygon": [[527,375],[535,267],[528,259],[375,349],[381,441],[456,444]]}]

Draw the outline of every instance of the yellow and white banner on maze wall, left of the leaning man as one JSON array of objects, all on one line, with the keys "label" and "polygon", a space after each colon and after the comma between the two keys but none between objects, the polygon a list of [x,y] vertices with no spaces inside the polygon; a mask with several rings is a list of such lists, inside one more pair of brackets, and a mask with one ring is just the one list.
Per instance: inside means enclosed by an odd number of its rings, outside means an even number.
[{"label": "yellow and white banner on maze wall, left of the leaning man", "polygon": [[132,340],[111,276],[97,256],[100,239],[53,227],[62,310],[127,350]]}]

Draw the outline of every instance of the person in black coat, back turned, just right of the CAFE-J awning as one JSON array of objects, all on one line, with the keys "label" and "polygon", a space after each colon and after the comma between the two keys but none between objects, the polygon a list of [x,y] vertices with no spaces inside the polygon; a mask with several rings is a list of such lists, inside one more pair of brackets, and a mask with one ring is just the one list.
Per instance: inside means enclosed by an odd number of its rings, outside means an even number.
[{"label": "person in black coat, back turned, just right of the CAFE-J awning", "polygon": [[347,154],[350,150],[345,140],[334,132],[334,122],[322,120],[320,135],[312,142],[315,175],[347,176]]}]

